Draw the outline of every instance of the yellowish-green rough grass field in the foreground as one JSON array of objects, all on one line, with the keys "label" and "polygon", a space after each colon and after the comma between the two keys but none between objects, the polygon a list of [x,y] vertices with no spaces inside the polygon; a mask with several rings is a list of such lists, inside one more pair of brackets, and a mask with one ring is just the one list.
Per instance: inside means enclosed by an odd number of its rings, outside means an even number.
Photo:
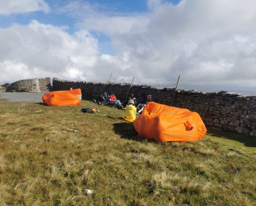
[{"label": "yellowish-green rough grass field in the foreground", "polygon": [[255,139],[207,128],[198,142],[158,143],[124,114],[0,100],[1,205],[255,205],[255,160],[228,150],[256,157]]}]

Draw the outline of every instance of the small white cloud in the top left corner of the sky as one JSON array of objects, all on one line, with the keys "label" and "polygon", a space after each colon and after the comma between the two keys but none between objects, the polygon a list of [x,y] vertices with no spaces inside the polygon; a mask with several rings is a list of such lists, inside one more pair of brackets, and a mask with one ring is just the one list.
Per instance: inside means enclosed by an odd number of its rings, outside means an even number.
[{"label": "small white cloud in the top left corner of the sky", "polygon": [[43,0],[0,0],[0,14],[28,13],[33,11],[50,12],[50,7]]}]

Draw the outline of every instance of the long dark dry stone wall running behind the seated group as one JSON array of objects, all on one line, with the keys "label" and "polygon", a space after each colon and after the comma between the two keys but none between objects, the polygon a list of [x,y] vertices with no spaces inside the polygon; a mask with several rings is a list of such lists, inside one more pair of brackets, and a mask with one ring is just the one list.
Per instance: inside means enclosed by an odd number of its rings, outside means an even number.
[{"label": "long dark dry stone wall running behind the seated group", "polygon": [[[130,84],[111,82],[107,85],[100,82],[53,79],[53,89],[55,91],[69,90],[70,88],[80,88],[83,98],[85,96],[97,98],[103,91],[107,91],[108,93],[113,92],[117,99],[125,99]],[[137,96],[140,91],[144,91],[146,95],[153,95],[156,102],[170,106],[174,89],[132,85],[129,95],[135,93],[135,96]],[[241,95],[227,91],[198,92],[196,90],[178,90],[174,107],[198,112],[206,126],[256,137],[256,96]]]}]

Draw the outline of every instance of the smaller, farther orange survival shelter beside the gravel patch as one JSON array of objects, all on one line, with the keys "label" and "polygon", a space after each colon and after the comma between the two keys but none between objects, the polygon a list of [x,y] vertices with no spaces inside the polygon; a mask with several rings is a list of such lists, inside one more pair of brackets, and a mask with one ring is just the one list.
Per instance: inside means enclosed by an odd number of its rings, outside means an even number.
[{"label": "smaller, farther orange survival shelter beside the gravel patch", "polygon": [[80,105],[82,99],[81,89],[75,89],[68,91],[56,91],[45,93],[42,96],[44,104],[49,106],[77,106]]}]

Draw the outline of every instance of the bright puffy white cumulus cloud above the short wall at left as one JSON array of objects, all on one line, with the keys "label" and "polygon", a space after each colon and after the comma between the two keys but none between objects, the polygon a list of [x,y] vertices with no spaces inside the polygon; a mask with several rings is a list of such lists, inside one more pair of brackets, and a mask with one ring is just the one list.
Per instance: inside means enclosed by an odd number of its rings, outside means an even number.
[{"label": "bright puffy white cumulus cloud above the short wall at left", "polygon": [[71,36],[62,28],[35,20],[27,26],[0,28],[0,44],[3,83],[40,77],[85,78],[83,74],[98,58],[98,41],[88,31]]}]

